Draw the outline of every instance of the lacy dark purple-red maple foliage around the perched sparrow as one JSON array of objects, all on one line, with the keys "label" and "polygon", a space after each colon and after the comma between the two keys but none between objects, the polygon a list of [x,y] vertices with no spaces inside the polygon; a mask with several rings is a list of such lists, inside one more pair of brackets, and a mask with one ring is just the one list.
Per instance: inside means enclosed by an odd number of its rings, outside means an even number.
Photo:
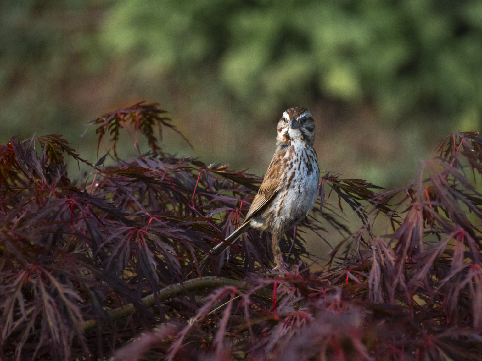
[{"label": "lacy dark purple-red maple foliage around the perched sparrow", "polygon": [[[482,360],[477,133],[443,140],[406,188],[323,174],[301,226],[339,242],[311,272],[306,233],[288,232],[281,274],[269,232],[209,256],[262,179],[163,153],[164,114],[138,103],[91,122],[113,142],[131,129],[137,150],[146,136],[148,153],[113,166],[58,135],[0,146],[1,359]],[[69,179],[67,156],[92,175]]]}]

